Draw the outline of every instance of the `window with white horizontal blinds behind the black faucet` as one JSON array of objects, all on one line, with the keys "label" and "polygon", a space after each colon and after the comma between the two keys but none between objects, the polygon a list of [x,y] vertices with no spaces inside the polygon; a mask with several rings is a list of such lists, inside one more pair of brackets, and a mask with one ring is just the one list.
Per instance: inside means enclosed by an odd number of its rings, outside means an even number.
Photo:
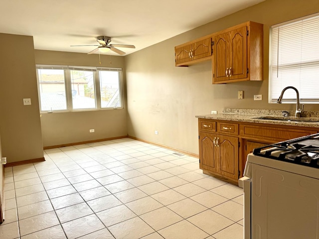
[{"label": "window with white horizontal blinds behind the black faucet", "polygon": [[[294,86],[302,103],[319,104],[319,15],[272,26],[269,53],[269,103]],[[296,103],[296,92],[285,92],[283,103]]]}]

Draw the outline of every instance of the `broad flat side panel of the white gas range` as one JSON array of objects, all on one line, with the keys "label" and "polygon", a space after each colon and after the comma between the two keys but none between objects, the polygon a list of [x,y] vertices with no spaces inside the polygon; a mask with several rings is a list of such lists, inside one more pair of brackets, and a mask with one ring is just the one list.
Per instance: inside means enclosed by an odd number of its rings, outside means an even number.
[{"label": "broad flat side panel of the white gas range", "polygon": [[319,179],[252,164],[251,235],[253,239],[319,239]]}]

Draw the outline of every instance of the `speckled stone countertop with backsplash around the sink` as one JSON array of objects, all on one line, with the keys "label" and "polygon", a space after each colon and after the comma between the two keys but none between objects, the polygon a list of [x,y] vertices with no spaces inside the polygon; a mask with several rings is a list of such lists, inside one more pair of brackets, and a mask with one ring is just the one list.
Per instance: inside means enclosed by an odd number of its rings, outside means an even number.
[{"label": "speckled stone countertop with backsplash around the sink", "polygon": [[[249,110],[249,109],[224,109],[222,114],[216,115],[200,115],[196,118],[200,119],[216,119],[216,120],[229,120],[239,122],[252,122],[252,123],[268,123],[277,125],[295,125],[303,127],[319,127],[319,112],[305,112],[300,120],[310,121],[293,121],[295,118],[295,111],[287,111],[289,117],[282,116],[283,111],[278,110]],[[274,119],[255,119],[259,117],[275,117]],[[283,119],[283,120],[278,120]],[[292,121],[288,121],[288,119]]]}]

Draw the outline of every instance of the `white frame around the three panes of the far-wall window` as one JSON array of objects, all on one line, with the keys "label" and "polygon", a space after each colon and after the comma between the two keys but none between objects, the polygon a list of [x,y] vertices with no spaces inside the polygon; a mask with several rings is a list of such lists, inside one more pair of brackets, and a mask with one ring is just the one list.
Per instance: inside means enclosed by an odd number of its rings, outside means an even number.
[{"label": "white frame around the three panes of the far-wall window", "polygon": [[[123,84],[123,69],[113,68],[113,67],[92,67],[92,66],[66,66],[66,65],[43,65],[36,64],[36,78],[37,78],[37,88],[38,88],[38,100],[39,100],[39,110],[41,114],[44,113],[67,113],[67,112],[89,112],[89,111],[104,111],[104,110],[117,110],[124,109],[124,84]],[[52,70],[64,70],[64,88],[65,88],[65,98],[66,98],[66,110],[52,110],[42,111],[41,108],[41,93],[40,93],[40,82],[39,82],[39,69],[52,69]],[[73,98],[72,98],[72,81],[71,81],[71,70],[78,71],[92,71],[93,72],[93,82],[94,82],[94,94],[95,94],[95,108],[85,108],[85,109],[73,109]],[[101,91],[100,91],[100,71],[116,71],[119,72],[119,100],[121,102],[120,107],[101,107]]]}]

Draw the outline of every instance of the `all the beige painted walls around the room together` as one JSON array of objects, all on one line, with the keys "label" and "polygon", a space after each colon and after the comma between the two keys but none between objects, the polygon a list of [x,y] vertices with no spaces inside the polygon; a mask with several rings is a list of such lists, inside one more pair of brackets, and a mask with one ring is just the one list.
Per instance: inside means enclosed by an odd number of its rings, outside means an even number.
[{"label": "all the beige painted walls around the room together", "polygon": [[[112,64],[110,56],[102,55],[101,66],[120,67],[126,73],[127,108],[42,114],[42,118],[34,64],[100,66],[98,55],[34,51],[31,36],[0,33],[2,155],[8,162],[40,158],[42,146],[127,133],[198,153],[195,115],[221,112],[223,108],[294,110],[294,105],[268,104],[269,27],[318,11],[318,0],[307,0],[307,4],[303,0],[267,0],[128,56],[111,56]],[[248,20],[264,24],[263,82],[212,85],[211,62],[174,66],[174,46]],[[238,90],[244,91],[243,100],[237,99]],[[263,101],[253,101],[256,94],[262,94]],[[22,98],[31,98],[32,105],[23,106]],[[319,105],[306,105],[305,110],[319,110]],[[91,128],[95,133],[89,133]]]}]

